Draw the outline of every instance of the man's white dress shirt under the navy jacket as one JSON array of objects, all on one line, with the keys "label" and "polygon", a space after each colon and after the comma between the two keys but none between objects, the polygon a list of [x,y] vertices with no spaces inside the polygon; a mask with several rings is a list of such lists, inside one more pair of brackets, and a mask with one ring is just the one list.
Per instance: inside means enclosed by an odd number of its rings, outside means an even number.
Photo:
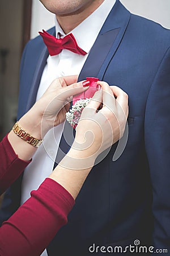
[{"label": "man's white dress shirt under the navy jacket", "polygon": [[[78,46],[87,52],[87,55],[82,56],[67,49],[63,49],[58,55],[48,57],[42,73],[36,100],[39,100],[51,82],[57,77],[78,75],[80,73],[88,57],[88,53],[95,43],[97,35],[115,2],[116,0],[105,0],[94,13],[88,16],[79,24],[79,26],[71,31],[75,36]],[[58,38],[58,33],[65,36],[57,19],[55,19],[55,22],[56,38]],[[44,179],[52,172],[62,136],[62,130],[63,123],[54,127],[54,129],[50,130],[45,135],[43,143],[33,156],[32,162],[25,169],[22,180],[21,204],[30,197],[30,192],[33,189],[37,189],[42,181],[44,181]],[[47,255],[46,250],[42,255]]]}]

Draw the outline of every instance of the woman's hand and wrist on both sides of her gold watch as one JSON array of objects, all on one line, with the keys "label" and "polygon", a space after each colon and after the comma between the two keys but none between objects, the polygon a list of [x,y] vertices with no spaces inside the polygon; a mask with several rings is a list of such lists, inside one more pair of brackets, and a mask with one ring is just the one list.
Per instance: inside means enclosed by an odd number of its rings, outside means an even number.
[{"label": "woman's hand and wrist on both sides of her gold watch", "polygon": [[[70,97],[88,89],[83,87],[82,82],[76,81],[77,76],[54,80],[40,100],[20,118],[19,126],[32,137],[42,139],[53,126],[65,121]],[[12,130],[8,134],[8,140],[15,153],[23,160],[30,160],[37,149],[19,138]]]}]

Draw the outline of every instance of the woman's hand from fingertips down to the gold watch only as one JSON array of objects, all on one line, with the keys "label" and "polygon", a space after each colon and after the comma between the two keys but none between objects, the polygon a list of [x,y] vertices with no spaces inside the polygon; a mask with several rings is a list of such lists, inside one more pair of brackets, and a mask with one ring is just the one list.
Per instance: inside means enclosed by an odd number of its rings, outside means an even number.
[{"label": "woman's hand from fingertips down to the gold watch only", "polygon": [[88,89],[82,82],[76,82],[77,78],[75,75],[54,80],[40,100],[20,119],[20,126],[34,137],[43,138],[53,126],[65,121],[71,96]]}]

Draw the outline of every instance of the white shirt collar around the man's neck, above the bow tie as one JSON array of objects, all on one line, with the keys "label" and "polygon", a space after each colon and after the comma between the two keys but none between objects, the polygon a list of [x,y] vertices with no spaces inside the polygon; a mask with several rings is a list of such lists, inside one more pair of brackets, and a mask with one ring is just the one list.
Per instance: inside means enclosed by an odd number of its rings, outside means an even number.
[{"label": "white shirt collar around the man's neck, above the bow tie", "polygon": [[[107,16],[109,15],[112,7],[114,6],[116,0],[105,0],[90,16],[83,20],[74,30],[70,31],[76,39],[78,46],[82,48],[85,52],[90,52],[91,47],[95,43],[97,35],[99,34],[101,27],[103,26]],[[56,37],[58,38],[58,33],[62,36],[66,34],[63,32],[62,28],[59,26],[57,19],[56,23]],[[69,34],[70,34],[69,33]]]}]

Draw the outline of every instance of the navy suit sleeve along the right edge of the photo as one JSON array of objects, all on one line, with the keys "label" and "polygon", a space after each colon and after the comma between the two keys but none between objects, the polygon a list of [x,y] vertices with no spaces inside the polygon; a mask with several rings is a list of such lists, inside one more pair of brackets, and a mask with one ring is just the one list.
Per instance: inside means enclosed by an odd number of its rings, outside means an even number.
[{"label": "navy suit sleeve along the right edge of the photo", "polygon": [[152,184],[155,249],[170,253],[170,48],[148,93],[145,146]]}]

